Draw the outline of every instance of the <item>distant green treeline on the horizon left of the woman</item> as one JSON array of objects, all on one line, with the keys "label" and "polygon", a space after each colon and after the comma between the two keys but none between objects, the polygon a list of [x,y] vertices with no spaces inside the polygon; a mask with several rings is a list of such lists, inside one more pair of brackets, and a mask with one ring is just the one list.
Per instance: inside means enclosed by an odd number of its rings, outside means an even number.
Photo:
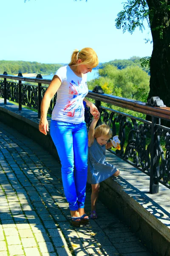
[{"label": "distant green treeline on the horizon left of the woman", "polygon": [[0,74],[3,74],[4,71],[8,75],[18,73],[50,74],[55,73],[62,66],[63,64],[43,64],[36,61],[0,61]]}]

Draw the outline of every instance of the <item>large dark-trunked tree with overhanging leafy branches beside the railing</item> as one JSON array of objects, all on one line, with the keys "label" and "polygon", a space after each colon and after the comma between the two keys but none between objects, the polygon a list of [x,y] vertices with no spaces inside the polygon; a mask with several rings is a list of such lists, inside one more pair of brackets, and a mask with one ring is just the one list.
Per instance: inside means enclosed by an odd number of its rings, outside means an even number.
[{"label": "large dark-trunked tree with overhanging leafy branches beside the railing", "polygon": [[150,58],[150,91],[148,99],[159,96],[170,107],[170,1],[127,0],[116,18],[116,28],[130,33],[144,29],[146,18],[153,38]]}]

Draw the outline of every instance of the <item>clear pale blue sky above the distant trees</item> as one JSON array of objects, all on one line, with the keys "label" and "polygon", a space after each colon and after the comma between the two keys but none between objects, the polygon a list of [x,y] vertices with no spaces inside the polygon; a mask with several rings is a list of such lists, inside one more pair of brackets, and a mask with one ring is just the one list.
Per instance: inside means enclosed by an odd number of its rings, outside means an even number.
[{"label": "clear pale blue sky above the distant trees", "polygon": [[68,63],[74,49],[92,47],[99,62],[150,56],[148,28],[116,29],[122,0],[3,0],[0,60]]}]

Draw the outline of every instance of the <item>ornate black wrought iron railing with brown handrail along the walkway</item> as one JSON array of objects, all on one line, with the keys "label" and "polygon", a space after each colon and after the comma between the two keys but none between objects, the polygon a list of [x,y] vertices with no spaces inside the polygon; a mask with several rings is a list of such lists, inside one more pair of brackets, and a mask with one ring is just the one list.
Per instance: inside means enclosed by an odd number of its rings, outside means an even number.
[{"label": "ornate black wrought iron railing with brown handrail along the walkway", "polygon": [[[45,84],[50,84],[51,80],[5,74],[0,78],[3,79],[0,80],[0,97],[4,98],[5,104],[8,99],[18,103],[19,110],[22,105],[34,108],[40,117],[41,100],[47,89]],[[144,102],[101,94],[97,87],[89,91],[87,97],[95,100],[101,119],[110,125],[113,136],[119,135],[121,150],[110,151],[150,176],[150,193],[159,192],[159,183],[170,188],[170,128],[161,125],[161,120],[170,121],[170,108],[157,108]],[[49,114],[56,99],[57,94],[51,100]],[[151,116],[151,121],[117,111],[115,106]]]}]

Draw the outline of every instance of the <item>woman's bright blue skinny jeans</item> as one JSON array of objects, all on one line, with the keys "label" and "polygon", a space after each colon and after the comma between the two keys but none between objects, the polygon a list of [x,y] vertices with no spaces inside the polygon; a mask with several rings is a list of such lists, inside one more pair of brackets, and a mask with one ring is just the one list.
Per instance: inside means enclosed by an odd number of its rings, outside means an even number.
[{"label": "woman's bright blue skinny jeans", "polygon": [[85,122],[51,120],[50,133],[61,161],[62,183],[70,210],[84,208],[88,158]]}]

